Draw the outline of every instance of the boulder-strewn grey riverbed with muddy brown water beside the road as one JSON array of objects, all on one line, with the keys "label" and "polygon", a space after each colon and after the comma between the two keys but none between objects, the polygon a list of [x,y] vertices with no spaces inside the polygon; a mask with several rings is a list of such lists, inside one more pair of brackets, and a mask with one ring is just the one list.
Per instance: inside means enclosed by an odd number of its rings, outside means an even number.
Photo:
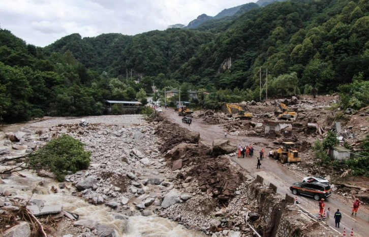
[{"label": "boulder-strewn grey riverbed with muddy brown water beside the road", "polygon": [[[88,126],[78,125],[81,118],[48,118],[3,129],[0,171],[17,165],[9,158],[32,152],[60,134],[82,141],[92,155],[87,170],[68,175],[62,183],[45,171],[37,174],[47,178],[31,172],[3,176],[1,218],[27,206],[52,236],[252,236],[247,220],[259,230],[269,228],[258,199],[272,192],[228,155],[211,155],[217,146],[211,150],[203,145],[198,133],[162,118],[147,122],[139,115],[83,119]],[[218,153],[232,155],[226,142],[217,144]],[[255,189],[257,195],[250,195]],[[282,197],[270,198],[276,198],[270,204],[278,208]],[[32,229],[16,218],[0,227],[5,236],[16,236],[16,231],[26,236]]]}]

